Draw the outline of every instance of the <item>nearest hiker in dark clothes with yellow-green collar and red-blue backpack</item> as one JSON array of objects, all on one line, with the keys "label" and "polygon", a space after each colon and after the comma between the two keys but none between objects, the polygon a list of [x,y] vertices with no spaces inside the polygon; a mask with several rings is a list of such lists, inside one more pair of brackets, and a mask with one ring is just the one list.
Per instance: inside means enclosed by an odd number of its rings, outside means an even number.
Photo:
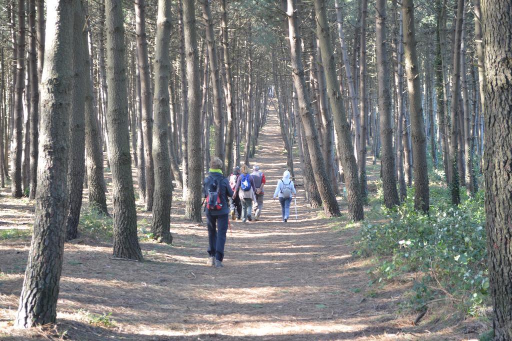
[{"label": "nearest hiker in dark clothes with yellow-green collar and red-blue backpack", "polygon": [[208,177],[204,179],[203,194],[205,198],[206,224],[208,226],[208,262],[207,265],[222,268],[224,245],[228,228],[228,198],[233,191],[228,180],[222,174],[222,161],[214,157],[210,161]]}]

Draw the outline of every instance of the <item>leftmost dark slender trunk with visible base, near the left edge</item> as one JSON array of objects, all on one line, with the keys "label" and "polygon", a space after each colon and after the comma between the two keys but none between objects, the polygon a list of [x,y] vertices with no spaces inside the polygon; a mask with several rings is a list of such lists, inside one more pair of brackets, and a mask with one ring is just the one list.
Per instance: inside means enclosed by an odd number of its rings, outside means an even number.
[{"label": "leftmost dark slender trunk with visible base, near the left edge", "polygon": [[[23,91],[25,88],[25,0],[18,0],[18,26],[16,40],[16,83],[14,88],[11,193],[20,198],[22,189],[23,156]],[[14,13],[13,13],[14,15]]]}]

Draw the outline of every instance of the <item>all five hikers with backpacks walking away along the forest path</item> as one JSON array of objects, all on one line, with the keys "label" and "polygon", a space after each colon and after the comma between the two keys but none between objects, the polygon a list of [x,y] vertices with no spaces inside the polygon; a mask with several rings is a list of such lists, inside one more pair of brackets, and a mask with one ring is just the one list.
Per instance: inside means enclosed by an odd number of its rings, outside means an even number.
[{"label": "all five hikers with backpacks walking away along the forest path", "polygon": [[[209,240],[207,264],[222,268],[229,215],[231,220],[242,219],[243,223],[247,220],[252,222],[254,210],[254,221],[258,221],[263,210],[266,178],[257,165],[252,167],[252,173],[249,173],[249,167],[246,165],[233,167],[229,180],[222,172],[221,159],[214,157],[209,166],[208,176],[203,184]],[[288,222],[291,200],[295,195],[293,180],[290,179],[290,172],[286,170],[283,178],[278,180],[273,195],[273,199],[279,199],[281,204],[284,223]]]}]

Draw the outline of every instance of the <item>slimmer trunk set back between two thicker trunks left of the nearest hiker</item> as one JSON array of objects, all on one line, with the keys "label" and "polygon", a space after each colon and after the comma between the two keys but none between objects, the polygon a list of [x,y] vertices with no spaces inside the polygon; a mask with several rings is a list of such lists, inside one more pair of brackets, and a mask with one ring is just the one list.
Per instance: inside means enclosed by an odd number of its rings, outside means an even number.
[{"label": "slimmer trunk set back between two thicker trunks left of the nearest hiker", "polygon": [[135,1],[135,36],[137,38],[138,68],[142,107],[142,134],[144,138],[144,162],[146,174],[146,211],[153,210],[155,173],[153,169],[153,107],[151,102],[151,75],[147,53],[146,18],[144,0]]}]

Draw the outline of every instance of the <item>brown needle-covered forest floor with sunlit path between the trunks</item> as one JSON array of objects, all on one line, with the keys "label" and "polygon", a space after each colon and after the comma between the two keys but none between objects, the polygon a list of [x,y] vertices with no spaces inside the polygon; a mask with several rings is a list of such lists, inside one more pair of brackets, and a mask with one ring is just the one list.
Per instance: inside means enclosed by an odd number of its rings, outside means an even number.
[{"label": "brown needle-covered forest floor with sunlit path between the trunks", "polygon": [[[450,314],[437,315],[437,323],[431,318],[424,326],[413,326],[418,313],[399,310],[411,281],[369,286],[371,260],[353,256],[358,225],[347,224],[344,217],[324,218],[321,210],[306,205],[301,176],[296,179],[298,219],[292,207],[290,221],[281,223],[281,208],[272,194],[286,169],[286,154],[273,111],[251,164],[260,165],[266,174],[265,208],[259,222],[231,224],[224,268],[206,266],[206,228],[183,219],[179,192],[175,191],[172,210],[173,245],[144,237],[151,213],[145,212],[138,200],[145,262],[112,259],[111,240],[93,234],[82,233],[66,243],[57,325],[46,331],[12,328],[30,247],[33,202],[12,199],[9,190],[3,189],[0,340],[478,338],[477,334],[444,323]],[[296,174],[301,174],[302,165],[295,165]],[[378,176],[378,166],[371,162],[369,175],[370,179]],[[376,188],[370,190],[375,195]],[[346,216],[346,202],[343,197],[339,200]],[[83,203],[82,210],[87,212],[87,190]],[[109,205],[111,210],[111,191]],[[371,222],[371,215],[367,216]],[[82,217],[81,224],[89,224],[91,219],[94,217]]]}]

